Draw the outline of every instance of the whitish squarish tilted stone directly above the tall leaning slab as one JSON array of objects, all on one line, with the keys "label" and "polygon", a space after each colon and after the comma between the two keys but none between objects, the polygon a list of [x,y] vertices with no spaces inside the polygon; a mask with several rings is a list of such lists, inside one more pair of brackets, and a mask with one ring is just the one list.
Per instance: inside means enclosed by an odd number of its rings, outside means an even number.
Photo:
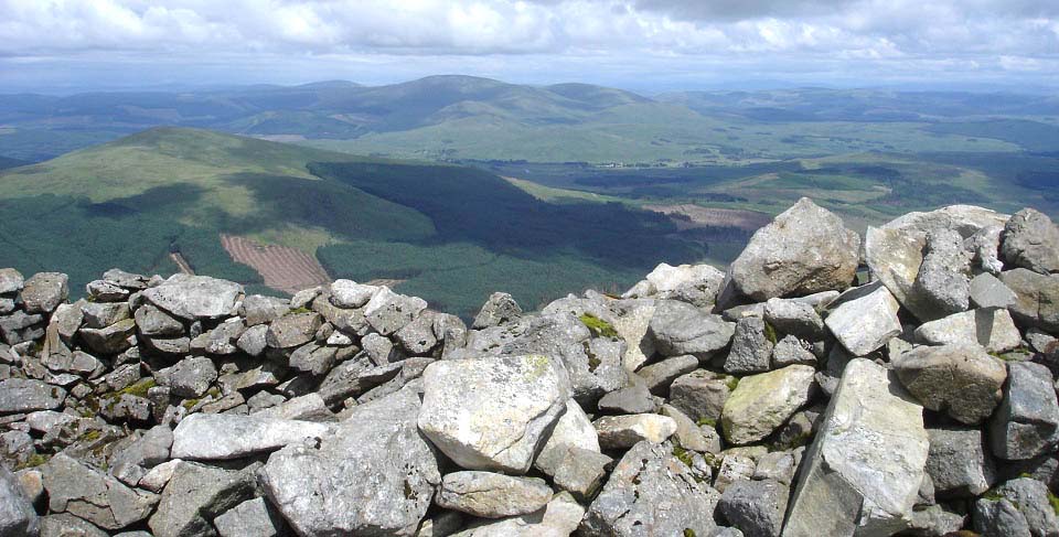
[{"label": "whitish squarish tilted stone directly above the tall leaning slab", "polygon": [[[853,297],[827,315],[831,333],[855,356],[865,356],[901,333],[900,304],[882,286],[852,291]],[[839,300],[844,300],[844,298]]]}]

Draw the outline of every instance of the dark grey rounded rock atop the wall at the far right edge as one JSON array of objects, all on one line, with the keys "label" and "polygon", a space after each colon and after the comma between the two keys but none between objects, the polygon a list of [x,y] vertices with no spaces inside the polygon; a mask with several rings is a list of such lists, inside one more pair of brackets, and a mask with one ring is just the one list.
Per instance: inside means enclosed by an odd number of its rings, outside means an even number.
[{"label": "dark grey rounded rock atop the wall at the far right edge", "polygon": [[1042,275],[1059,271],[1059,228],[1048,215],[1024,208],[1004,226],[1001,251],[1012,268]]}]

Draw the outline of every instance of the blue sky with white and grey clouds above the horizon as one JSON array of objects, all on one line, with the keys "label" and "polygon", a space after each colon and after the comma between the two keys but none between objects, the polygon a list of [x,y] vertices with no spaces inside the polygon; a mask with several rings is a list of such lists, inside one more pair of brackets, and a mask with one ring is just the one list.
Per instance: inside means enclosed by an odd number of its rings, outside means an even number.
[{"label": "blue sky with white and grey clouds above the horizon", "polygon": [[0,0],[0,93],[435,74],[1059,90],[1059,0]]}]

